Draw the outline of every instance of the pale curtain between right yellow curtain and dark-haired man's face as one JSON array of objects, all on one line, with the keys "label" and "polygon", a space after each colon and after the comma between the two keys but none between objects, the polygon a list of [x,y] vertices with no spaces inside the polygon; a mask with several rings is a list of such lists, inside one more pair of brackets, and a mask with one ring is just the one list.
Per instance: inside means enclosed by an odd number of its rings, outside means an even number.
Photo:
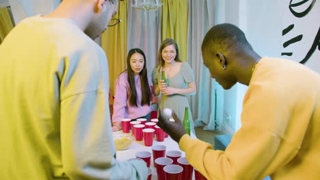
[{"label": "pale curtain between right yellow curtain and dark-haired man's face", "polygon": [[204,130],[215,130],[219,125],[217,120],[223,115],[224,91],[211,78],[201,54],[204,35],[215,25],[216,7],[216,0],[188,0],[187,59],[194,70],[197,85],[196,95],[189,98],[194,125],[204,126]]}]

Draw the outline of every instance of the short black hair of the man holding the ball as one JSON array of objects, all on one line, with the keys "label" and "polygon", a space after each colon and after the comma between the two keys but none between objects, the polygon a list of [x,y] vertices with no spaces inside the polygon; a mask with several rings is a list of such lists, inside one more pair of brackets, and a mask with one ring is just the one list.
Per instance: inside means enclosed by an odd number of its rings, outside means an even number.
[{"label": "short black hair of the man holding the ball", "polygon": [[201,49],[210,48],[211,50],[222,50],[225,48],[230,50],[233,48],[235,52],[244,48],[251,48],[245,34],[239,27],[224,23],[213,26],[204,36]]}]

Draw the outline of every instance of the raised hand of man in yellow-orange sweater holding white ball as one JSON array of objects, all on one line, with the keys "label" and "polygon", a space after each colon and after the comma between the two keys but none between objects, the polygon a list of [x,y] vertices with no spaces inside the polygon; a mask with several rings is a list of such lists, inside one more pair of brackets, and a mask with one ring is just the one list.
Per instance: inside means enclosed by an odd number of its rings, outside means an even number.
[{"label": "raised hand of man in yellow-orange sweater holding white ball", "polygon": [[158,117],[159,122],[157,125],[159,125],[163,131],[168,133],[173,140],[179,143],[181,137],[186,134],[185,127],[181,123],[180,119],[176,117],[176,113],[174,111],[172,112],[172,117],[175,122],[170,122],[168,117],[164,115],[163,110],[160,108]]}]

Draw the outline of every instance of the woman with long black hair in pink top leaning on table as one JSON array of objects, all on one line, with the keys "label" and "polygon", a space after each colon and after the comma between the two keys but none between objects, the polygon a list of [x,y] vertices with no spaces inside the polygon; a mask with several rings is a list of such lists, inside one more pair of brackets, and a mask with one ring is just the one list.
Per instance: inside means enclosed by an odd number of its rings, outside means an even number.
[{"label": "woman with long black hair in pink top leaning on table", "polygon": [[139,48],[129,50],[126,70],[115,82],[113,131],[121,130],[121,119],[150,118],[151,91],[146,70],[146,55]]}]

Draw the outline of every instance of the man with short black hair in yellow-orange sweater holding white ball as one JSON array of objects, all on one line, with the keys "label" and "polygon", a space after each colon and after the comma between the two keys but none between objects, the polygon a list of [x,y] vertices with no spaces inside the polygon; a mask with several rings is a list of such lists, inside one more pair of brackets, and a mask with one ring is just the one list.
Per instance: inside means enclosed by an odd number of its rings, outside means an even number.
[{"label": "man with short black hair in yellow-orange sweater holding white ball", "polygon": [[234,25],[216,25],[202,42],[212,78],[224,89],[248,85],[242,126],[225,151],[187,134],[160,112],[159,126],[207,179],[319,179],[320,76],[286,59],[260,57]]}]

